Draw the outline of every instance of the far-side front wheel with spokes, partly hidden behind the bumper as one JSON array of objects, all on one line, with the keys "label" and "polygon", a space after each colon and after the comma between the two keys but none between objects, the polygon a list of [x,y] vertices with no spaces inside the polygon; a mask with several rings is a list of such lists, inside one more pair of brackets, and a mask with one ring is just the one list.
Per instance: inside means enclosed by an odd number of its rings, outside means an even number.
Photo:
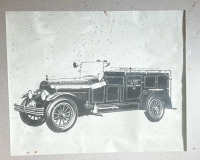
[{"label": "far-side front wheel with spokes, partly hidden behind the bumper", "polygon": [[[21,105],[27,105],[27,99],[25,99]],[[21,120],[29,126],[37,127],[45,122],[43,116],[35,116],[24,112],[19,112],[19,115],[21,117]]]}]

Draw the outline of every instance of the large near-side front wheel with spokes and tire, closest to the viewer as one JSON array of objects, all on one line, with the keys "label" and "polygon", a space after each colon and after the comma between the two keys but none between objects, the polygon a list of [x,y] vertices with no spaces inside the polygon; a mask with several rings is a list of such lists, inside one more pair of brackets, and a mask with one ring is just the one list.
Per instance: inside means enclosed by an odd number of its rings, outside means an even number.
[{"label": "large near-side front wheel with spokes and tire, closest to the viewer", "polygon": [[59,98],[46,109],[46,124],[54,132],[66,132],[76,123],[77,106],[69,98]]}]

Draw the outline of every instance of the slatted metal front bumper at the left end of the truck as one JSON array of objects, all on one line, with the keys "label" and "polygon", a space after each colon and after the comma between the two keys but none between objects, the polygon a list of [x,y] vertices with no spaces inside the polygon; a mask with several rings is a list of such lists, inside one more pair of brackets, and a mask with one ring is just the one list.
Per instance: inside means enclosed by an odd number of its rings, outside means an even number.
[{"label": "slatted metal front bumper at the left end of the truck", "polygon": [[14,104],[14,109],[15,111],[18,112],[24,112],[27,114],[32,114],[35,116],[44,116],[44,108],[35,108],[35,107],[30,107],[30,106],[23,106],[23,105],[18,105]]}]

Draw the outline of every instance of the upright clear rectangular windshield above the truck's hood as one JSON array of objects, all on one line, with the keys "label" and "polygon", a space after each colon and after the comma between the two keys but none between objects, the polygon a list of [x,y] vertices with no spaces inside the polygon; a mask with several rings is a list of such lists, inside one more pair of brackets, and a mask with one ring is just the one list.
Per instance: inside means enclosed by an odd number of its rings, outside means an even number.
[{"label": "upright clear rectangular windshield above the truck's hood", "polygon": [[96,76],[103,74],[103,64],[101,62],[88,62],[82,63],[81,77],[84,76]]}]

